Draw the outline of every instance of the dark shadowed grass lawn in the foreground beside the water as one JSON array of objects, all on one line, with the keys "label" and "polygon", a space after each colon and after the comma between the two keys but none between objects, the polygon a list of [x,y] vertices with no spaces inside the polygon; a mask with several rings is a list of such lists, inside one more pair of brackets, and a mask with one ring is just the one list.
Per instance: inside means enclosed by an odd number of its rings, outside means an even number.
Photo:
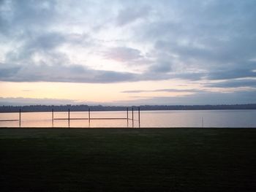
[{"label": "dark shadowed grass lawn in the foreground beside the water", "polygon": [[0,191],[256,191],[253,128],[4,128]]}]

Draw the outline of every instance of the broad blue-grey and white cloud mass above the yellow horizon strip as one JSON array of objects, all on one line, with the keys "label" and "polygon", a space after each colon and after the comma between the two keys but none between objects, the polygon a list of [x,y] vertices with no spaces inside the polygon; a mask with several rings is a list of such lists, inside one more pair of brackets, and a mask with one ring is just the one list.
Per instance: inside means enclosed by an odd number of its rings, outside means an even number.
[{"label": "broad blue-grey and white cloud mass above the yellow horizon strip", "polygon": [[0,1],[0,80],[235,86],[255,77],[255,9],[254,0]]}]

